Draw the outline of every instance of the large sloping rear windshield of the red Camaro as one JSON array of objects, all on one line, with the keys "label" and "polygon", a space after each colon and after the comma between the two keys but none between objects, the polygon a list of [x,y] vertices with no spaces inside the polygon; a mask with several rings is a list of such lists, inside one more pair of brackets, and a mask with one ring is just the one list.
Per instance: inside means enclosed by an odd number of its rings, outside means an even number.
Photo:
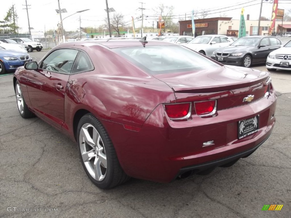
[{"label": "large sloping rear windshield of the red Camaro", "polygon": [[166,74],[217,68],[220,65],[190,49],[175,45],[115,48],[112,51],[146,72]]}]

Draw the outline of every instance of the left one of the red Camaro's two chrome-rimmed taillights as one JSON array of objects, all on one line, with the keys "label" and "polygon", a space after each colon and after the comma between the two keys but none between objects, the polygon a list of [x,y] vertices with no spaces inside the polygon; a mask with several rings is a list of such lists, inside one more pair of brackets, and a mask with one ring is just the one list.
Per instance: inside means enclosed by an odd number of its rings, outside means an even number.
[{"label": "left one of the red Camaro's two chrome-rimmed taillights", "polygon": [[184,118],[190,110],[190,103],[164,104],[166,113],[171,119]]}]

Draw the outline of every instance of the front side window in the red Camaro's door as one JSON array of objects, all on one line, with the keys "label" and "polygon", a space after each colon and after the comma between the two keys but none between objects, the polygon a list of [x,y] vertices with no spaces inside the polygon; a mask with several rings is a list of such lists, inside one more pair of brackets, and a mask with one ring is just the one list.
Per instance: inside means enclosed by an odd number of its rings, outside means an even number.
[{"label": "front side window in the red Camaro's door", "polygon": [[74,49],[58,49],[53,51],[42,61],[40,68],[47,71],[69,74],[78,52],[78,50]]}]

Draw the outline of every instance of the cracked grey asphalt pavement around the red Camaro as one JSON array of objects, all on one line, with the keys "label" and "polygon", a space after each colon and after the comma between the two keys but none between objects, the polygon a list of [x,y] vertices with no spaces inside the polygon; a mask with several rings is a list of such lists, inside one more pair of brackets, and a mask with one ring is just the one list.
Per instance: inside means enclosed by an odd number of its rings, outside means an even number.
[{"label": "cracked grey asphalt pavement around the red Camaro", "polygon": [[[1,76],[0,217],[291,217],[291,72],[272,76],[284,81],[274,84],[276,124],[251,156],[207,176],[168,184],[131,179],[111,190],[91,183],[75,142],[38,118],[22,119],[12,75]],[[262,211],[265,204],[283,208]]]}]

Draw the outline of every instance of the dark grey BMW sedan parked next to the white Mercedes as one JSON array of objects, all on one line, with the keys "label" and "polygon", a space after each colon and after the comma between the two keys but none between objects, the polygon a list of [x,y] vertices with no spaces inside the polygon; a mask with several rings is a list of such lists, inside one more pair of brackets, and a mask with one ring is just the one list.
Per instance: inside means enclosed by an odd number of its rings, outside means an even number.
[{"label": "dark grey BMW sedan parked next to the white Mercedes", "polygon": [[251,67],[265,63],[270,52],[281,48],[282,42],[272,36],[246,36],[230,46],[217,49],[211,58],[227,65]]}]

